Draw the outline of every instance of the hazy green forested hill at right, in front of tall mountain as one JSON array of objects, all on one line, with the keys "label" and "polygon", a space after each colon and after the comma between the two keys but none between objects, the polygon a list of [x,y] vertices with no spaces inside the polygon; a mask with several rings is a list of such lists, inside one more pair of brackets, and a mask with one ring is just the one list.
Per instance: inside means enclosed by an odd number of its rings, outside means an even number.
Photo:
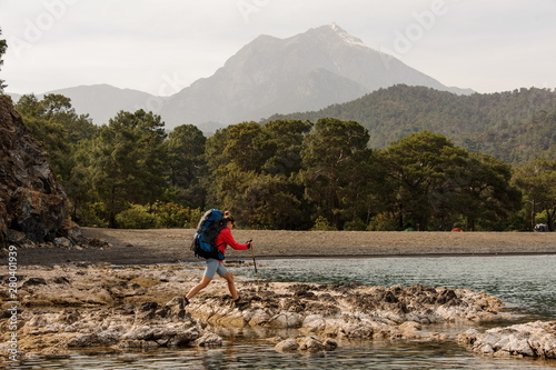
[{"label": "hazy green forested hill at right, in front of tall mountain", "polygon": [[384,149],[414,132],[429,130],[469,151],[514,164],[556,153],[556,92],[548,89],[457,96],[398,84],[319,111],[275,114],[268,121],[316,122],[326,117],[366,127],[371,148]]}]

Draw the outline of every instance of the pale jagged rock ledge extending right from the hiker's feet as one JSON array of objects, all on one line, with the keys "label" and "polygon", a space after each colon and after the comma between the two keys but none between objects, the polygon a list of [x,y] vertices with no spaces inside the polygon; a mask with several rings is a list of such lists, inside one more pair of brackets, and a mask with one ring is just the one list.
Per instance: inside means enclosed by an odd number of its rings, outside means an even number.
[{"label": "pale jagged rock ledge extending right from the hiker's feet", "polygon": [[191,316],[219,327],[299,329],[338,339],[443,339],[426,324],[502,318],[502,301],[469,289],[425,286],[272,284],[244,290],[241,308],[208,298],[188,307]]}]

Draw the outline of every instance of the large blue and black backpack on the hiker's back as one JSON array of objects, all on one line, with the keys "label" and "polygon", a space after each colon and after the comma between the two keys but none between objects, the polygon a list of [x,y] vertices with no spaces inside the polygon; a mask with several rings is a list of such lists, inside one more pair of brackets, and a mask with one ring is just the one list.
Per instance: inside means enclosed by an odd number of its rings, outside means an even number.
[{"label": "large blue and black backpack on the hiker's back", "polygon": [[221,224],[222,218],[222,211],[217,209],[208,210],[201,217],[191,242],[191,251],[196,257],[224,260],[224,253],[218,250],[219,246],[216,246],[216,238],[226,228],[226,226]]}]

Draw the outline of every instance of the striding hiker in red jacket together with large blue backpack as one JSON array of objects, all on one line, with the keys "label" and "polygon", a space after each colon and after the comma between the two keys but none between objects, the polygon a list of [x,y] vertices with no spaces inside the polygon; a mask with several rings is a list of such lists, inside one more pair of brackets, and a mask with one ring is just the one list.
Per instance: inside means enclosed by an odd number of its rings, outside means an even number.
[{"label": "striding hiker in red jacket together with large blue backpack", "polygon": [[222,264],[227,246],[236,250],[247,250],[252,247],[251,241],[245,244],[236,242],[231,236],[231,229],[234,229],[235,223],[236,219],[229,211],[226,211],[222,216],[221,211],[216,209],[207,211],[199,221],[191,249],[196,256],[205,257],[207,268],[201,281],[183,297],[185,306],[189,304],[189,300],[212,281],[215,273],[218,273],[228,282],[228,289],[234,302],[236,304],[244,303],[236,290],[234,276]]}]

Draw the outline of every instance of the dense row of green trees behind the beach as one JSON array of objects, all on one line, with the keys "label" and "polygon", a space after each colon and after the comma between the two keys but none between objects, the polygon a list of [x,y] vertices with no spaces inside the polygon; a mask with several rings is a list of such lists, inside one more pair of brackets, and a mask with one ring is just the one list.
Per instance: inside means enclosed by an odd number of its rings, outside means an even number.
[{"label": "dense row of green trees behind the beach", "polygon": [[192,124],[167,133],[160,117],[143,110],[120,111],[97,127],[59,94],[23,96],[16,108],[82,226],[195,227],[209,208],[229,209],[254,229],[502,231],[554,223],[554,158],[513,168],[427,130],[373,149],[368,129],[337,118],[241,122],[207,138]]}]

